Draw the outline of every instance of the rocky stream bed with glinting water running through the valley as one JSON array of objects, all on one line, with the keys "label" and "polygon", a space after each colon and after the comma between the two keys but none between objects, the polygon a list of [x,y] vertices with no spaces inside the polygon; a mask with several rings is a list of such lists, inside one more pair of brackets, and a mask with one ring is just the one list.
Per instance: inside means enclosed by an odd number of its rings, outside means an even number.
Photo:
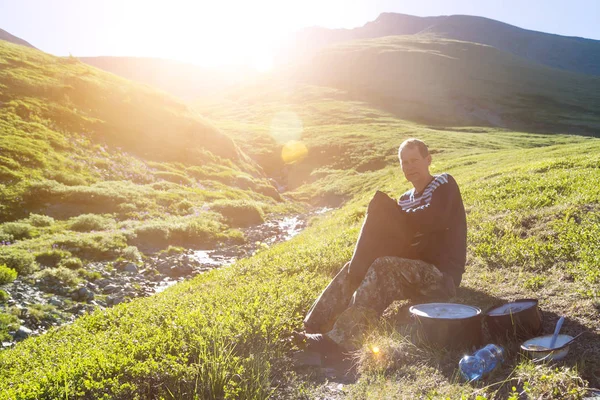
[{"label": "rocky stream bed with glinting water running through the valley", "polygon": [[310,217],[329,211],[321,208],[307,214],[284,217],[243,229],[245,243],[221,245],[207,250],[162,252],[140,262],[93,262],[84,268],[92,277],[76,287],[64,285],[52,276],[42,279],[18,278],[0,285],[8,294],[0,312],[19,318],[19,328],[10,331],[12,340],[0,343],[0,350],[12,347],[31,335],[42,334],[53,326],[74,321],[78,316],[129,301],[151,296],[167,287],[214,268],[251,256],[265,246],[289,240],[300,233]]}]

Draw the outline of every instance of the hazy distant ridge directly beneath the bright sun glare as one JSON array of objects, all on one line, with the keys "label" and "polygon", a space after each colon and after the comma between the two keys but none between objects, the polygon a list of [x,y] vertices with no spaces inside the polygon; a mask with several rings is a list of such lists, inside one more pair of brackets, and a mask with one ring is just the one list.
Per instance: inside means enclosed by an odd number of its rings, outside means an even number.
[{"label": "hazy distant ridge directly beneath the bright sun glare", "polygon": [[214,70],[148,57],[79,57],[79,60],[187,100],[211,96],[252,74],[249,69]]}]

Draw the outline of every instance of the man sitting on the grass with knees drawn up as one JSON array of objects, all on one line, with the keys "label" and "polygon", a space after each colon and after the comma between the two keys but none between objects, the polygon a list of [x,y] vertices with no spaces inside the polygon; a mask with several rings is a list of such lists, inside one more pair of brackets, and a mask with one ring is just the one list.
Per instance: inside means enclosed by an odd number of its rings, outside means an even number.
[{"label": "man sitting on the grass with knees drawn up", "polygon": [[309,349],[353,350],[365,328],[394,300],[450,298],[466,262],[467,224],[462,197],[449,174],[429,172],[424,142],[404,141],[400,166],[413,188],[396,203],[377,192],[354,254],[308,312]]}]

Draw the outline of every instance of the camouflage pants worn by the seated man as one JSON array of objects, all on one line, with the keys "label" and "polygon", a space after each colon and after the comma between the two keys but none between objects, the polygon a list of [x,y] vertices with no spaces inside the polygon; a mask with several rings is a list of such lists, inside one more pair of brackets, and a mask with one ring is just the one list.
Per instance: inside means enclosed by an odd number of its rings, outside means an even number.
[{"label": "camouflage pants worn by the seated man", "polygon": [[369,267],[358,289],[350,294],[352,284],[347,268],[348,264],[317,299],[305,319],[305,326],[315,326],[314,322],[319,321],[324,330],[318,333],[325,333],[348,350],[355,348],[362,333],[394,300],[455,295],[452,279],[424,261],[379,257]]}]

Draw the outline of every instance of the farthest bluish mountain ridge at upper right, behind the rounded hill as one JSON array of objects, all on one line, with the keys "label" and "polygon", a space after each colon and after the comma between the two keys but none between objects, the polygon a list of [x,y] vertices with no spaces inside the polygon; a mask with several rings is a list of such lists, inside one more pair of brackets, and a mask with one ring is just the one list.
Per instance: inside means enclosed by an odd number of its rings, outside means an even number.
[{"label": "farthest bluish mountain ridge at upper right, behind the rounded hill", "polygon": [[469,15],[415,17],[383,13],[375,21],[359,28],[308,28],[299,32],[283,50],[281,60],[304,58],[337,42],[426,33],[487,44],[554,68],[600,75],[600,40],[536,32]]}]

